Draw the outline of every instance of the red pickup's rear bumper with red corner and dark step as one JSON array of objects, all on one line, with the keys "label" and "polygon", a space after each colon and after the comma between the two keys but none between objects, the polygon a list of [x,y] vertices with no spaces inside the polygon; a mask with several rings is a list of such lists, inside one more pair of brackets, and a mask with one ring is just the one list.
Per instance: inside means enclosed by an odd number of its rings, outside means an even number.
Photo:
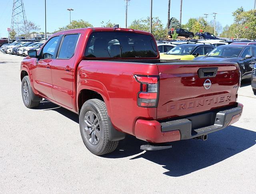
[{"label": "red pickup's rear bumper with red corner and dark step", "polygon": [[[196,138],[224,129],[238,121],[242,115],[242,109],[243,105],[237,103],[236,106],[232,108],[222,109],[218,112],[212,111],[167,122],[139,119],[135,124],[135,136],[138,139],[152,143],[173,142]],[[194,126],[198,125],[196,122],[207,118],[206,116],[212,118],[212,115],[214,115],[214,123],[212,125],[194,129]]]}]

